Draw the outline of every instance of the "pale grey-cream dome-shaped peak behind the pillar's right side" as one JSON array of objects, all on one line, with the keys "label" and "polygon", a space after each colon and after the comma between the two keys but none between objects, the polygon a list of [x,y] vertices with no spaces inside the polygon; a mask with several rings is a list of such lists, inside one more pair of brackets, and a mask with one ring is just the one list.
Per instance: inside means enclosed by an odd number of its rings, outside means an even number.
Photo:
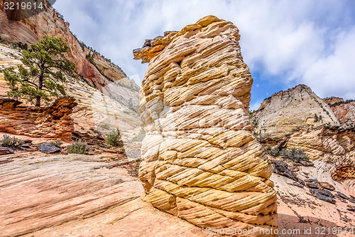
[{"label": "pale grey-cream dome-shaped peak behind the pillar's right side", "polygon": [[256,112],[256,132],[263,137],[282,137],[309,127],[339,126],[329,105],[307,85],[297,85],[263,100]]}]

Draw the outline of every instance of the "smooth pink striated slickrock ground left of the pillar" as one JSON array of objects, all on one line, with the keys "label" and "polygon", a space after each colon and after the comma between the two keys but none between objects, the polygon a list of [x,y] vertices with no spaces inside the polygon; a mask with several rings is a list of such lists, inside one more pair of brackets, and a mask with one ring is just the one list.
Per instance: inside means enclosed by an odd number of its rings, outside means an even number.
[{"label": "smooth pink striated slickrock ground left of the pillar", "polygon": [[0,236],[204,236],[141,201],[127,162],[106,154],[0,156]]}]

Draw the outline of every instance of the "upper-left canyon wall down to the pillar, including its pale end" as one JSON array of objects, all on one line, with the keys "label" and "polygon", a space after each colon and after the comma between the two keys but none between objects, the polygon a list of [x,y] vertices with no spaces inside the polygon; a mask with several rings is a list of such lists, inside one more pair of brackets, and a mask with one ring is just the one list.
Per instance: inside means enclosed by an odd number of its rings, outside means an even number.
[{"label": "upper-left canyon wall down to the pillar, including its pale end", "polygon": [[[28,45],[36,43],[43,36],[62,37],[70,47],[67,58],[75,64],[75,71],[84,81],[99,90],[104,90],[105,95],[126,106],[138,107],[138,85],[127,78],[119,66],[102,58],[99,53],[92,53],[94,57],[90,62],[87,57],[89,49],[80,45],[76,36],[70,32],[69,23],[65,22],[62,16],[58,16],[55,9],[48,7],[47,4],[45,6],[45,10],[39,14],[25,19],[21,17],[21,21],[11,21],[4,10],[4,1],[0,0],[0,37],[7,42]],[[28,12],[20,9],[16,14],[21,16]]]}]

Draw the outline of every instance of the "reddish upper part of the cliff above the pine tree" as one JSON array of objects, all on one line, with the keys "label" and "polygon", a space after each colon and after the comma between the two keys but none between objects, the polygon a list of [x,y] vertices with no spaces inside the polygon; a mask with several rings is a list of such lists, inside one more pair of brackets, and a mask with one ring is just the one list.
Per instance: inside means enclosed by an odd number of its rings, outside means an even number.
[{"label": "reddish upper part of the cliff above the pine tree", "polygon": [[[16,14],[25,13],[21,13],[20,10]],[[21,21],[10,21],[4,10],[4,0],[0,0],[0,26],[0,36],[8,42],[31,44],[36,43],[45,35],[62,37],[70,46],[67,58],[75,64],[77,73],[82,75],[87,82],[95,85],[99,89],[111,83],[111,81],[105,78],[104,75],[89,62],[77,38],[70,33],[68,24],[58,18],[53,8],[47,7],[45,11],[40,14]],[[119,79],[121,78],[117,78],[117,80]]]}]

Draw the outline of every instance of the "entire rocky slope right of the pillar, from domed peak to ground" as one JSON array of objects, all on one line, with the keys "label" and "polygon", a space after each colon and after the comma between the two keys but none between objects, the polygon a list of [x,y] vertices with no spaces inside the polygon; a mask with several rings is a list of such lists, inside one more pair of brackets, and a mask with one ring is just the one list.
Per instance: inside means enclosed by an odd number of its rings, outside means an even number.
[{"label": "entire rocky slope right of the pillar, from domed peak to ground", "polygon": [[[264,100],[253,117],[265,147],[304,150],[313,163],[304,166],[288,160],[295,177],[289,176],[293,178],[290,179],[280,172],[271,177],[277,187],[278,215],[288,216],[282,221],[286,228],[355,224],[354,213],[347,210],[351,201],[342,198],[343,194],[355,195],[355,132],[339,127],[333,111],[310,88],[297,85]],[[299,183],[295,183],[296,177]],[[307,182],[312,179],[327,184],[331,190]]]}]

